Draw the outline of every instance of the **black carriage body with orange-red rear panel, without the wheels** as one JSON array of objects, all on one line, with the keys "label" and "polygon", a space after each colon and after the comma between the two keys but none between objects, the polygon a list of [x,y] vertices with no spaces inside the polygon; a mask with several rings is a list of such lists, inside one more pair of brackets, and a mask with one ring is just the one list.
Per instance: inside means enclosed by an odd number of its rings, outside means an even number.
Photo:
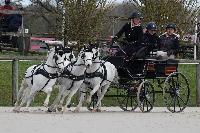
[{"label": "black carriage body with orange-red rear panel, without the wheels", "polygon": [[115,65],[120,79],[154,79],[166,78],[171,73],[178,72],[178,61],[173,59],[135,59],[129,60],[123,56],[110,56],[105,59]]}]

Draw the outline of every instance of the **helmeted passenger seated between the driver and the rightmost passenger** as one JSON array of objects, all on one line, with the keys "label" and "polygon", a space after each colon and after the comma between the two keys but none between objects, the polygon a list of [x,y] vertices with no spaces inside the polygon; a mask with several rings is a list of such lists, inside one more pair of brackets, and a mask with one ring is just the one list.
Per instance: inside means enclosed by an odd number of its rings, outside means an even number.
[{"label": "helmeted passenger seated between the driver and the rightmost passenger", "polygon": [[[156,34],[157,25],[149,22],[146,26],[146,32],[143,35],[142,43],[145,45],[145,57],[150,56],[153,51],[158,49],[160,44],[159,36]],[[142,50],[142,49],[141,49]]]}]

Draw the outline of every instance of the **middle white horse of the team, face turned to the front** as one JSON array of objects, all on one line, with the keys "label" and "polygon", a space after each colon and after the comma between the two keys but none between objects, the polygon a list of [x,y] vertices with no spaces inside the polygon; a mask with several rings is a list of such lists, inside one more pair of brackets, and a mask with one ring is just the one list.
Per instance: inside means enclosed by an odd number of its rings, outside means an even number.
[{"label": "middle white horse of the team, face turned to the front", "polygon": [[[66,106],[70,104],[71,98],[84,81],[86,68],[92,65],[93,56],[92,49],[84,46],[78,55],[77,61],[63,71],[62,78],[58,79],[60,93],[49,107],[49,112],[56,111],[57,107],[62,107],[66,96]],[[63,108],[63,112],[65,112],[66,106]]]}]

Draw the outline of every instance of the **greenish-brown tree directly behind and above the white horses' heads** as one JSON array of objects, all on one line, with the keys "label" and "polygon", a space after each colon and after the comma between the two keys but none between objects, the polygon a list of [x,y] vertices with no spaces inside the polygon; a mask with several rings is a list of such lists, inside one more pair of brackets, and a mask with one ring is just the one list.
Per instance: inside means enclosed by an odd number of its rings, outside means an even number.
[{"label": "greenish-brown tree directly behind and above the white horses' heads", "polygon": [[80,45],[96,40],[110,6],[107,0],[64,0],[66,40],[78,41]]}]

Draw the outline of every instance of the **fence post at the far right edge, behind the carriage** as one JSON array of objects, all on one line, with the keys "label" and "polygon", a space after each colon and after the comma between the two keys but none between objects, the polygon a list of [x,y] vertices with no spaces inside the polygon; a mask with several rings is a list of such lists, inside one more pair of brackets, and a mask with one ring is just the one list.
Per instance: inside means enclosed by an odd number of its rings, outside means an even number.
[{"label": "fence post at the far right edge, behind the carriage", "polygon": [[200,107],[200,64],[196,65],[196,104]]}]

